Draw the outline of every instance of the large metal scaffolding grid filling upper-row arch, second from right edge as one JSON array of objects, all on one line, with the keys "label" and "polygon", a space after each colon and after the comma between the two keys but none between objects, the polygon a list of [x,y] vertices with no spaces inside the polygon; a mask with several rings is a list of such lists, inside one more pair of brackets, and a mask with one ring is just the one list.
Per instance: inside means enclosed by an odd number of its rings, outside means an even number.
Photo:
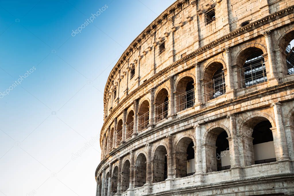
[{"label": "large metal scaffolding grid filling upper-row arch, second from right edge", "polygon": [[241,87],[250,87],[268,81],[262,55],[246,60],[244,68],[239,69]]}]

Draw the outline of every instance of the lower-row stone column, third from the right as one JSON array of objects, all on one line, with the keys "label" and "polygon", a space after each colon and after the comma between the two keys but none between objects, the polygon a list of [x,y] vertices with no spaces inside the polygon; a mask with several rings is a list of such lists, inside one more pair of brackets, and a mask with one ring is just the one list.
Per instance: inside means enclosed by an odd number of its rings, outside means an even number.
[{"label": "lower-row stone column, third from the right", "polygon": [[203,162],[202,162],[202,138],[201,138],[201,125],[196,124],[194,126],[195,129],[195,135],[196,135],[196,174],[198,173],[204,173],[203,171]]}]

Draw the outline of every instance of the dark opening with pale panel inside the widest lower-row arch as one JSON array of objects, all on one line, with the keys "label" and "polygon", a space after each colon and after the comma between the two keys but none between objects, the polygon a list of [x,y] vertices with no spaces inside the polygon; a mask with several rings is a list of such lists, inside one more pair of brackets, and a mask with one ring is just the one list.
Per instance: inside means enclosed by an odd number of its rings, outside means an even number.
[{"label": "dark opening with pale panel inside the widest lower-row arch", "polygon": [[261,121],[255,125],[253,137],[254,164],[270,163],[276,161],[273,133],[270,130],[270,121]]}]

